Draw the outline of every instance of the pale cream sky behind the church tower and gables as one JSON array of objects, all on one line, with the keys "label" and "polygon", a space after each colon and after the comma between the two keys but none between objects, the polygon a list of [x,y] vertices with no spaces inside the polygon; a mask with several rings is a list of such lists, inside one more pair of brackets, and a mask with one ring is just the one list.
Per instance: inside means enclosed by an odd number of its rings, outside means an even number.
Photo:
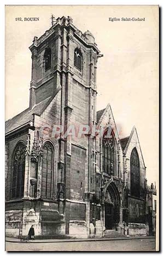
[{"label": "pale cream sky behind the church tower and gables", "polygon": [[[148,184],[159,180],[159,23],[153,5],[6,7],[5,118],[29,106],[34,36],[50,28],[50,16],[71,16],[82,32],[91,31],[103,58],[97,65],[97,111],[110,103],[120,138],[136,126]],[[15,18],[39,17],[39,21]],[[109,18],[145,21],[109,21]]]}]

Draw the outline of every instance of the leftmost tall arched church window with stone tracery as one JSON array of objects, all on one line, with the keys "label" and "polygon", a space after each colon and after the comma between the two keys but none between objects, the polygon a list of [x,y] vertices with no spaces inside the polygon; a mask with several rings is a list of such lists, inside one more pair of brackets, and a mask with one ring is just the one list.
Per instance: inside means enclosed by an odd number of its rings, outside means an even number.
[{"label": "leftmost tall arched church window with stone tracery", "polygon": [[25,144],[22,142],[17,144],[13,156],[13,180],[11,188],[11,198],[24,197],[25,152]]}]

